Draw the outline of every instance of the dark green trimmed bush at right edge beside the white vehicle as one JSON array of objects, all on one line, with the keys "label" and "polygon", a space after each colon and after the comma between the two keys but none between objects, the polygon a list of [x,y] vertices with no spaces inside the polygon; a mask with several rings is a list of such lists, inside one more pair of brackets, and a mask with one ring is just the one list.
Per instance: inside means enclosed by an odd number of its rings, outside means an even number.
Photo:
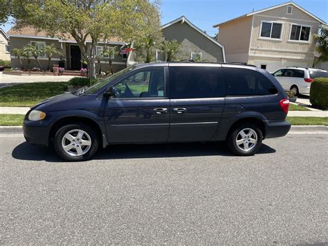
[{"label": "dark green trimmed bush at right edge beside the white vehicle", "polygon": [[328,78],[316,78],[311,82],[310,103],[318,109],[328,109]]}]

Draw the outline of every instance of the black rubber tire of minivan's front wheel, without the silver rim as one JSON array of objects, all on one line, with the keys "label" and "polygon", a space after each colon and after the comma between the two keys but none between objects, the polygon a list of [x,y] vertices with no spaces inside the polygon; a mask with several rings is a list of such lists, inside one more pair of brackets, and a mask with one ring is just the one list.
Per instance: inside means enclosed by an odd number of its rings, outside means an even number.
[{"label": "black rubber tire of minivan's front wheel, without the silver rim", "polygon": [[[91,139],[91,146],[84,155],[69,155],[69,153],[67,153],[62,147],[62,139],[64,138],[64,135],[72,130],[83,130],[84,132],[86,132],[86,134],[89,134],[89,137]],[[53,146],[55,148],[55,151],[57,152],[57,155],[59,155],[62,159],[66,161],[86,161],[87,159],[93,157],[93,155],[95,155],[95,152],[97,152],[99,146],[99,137],[89,125],[82,123],[64,125],[62,128],[60,128],[60,130],[56,132],[55,139],[53,141]]]}]

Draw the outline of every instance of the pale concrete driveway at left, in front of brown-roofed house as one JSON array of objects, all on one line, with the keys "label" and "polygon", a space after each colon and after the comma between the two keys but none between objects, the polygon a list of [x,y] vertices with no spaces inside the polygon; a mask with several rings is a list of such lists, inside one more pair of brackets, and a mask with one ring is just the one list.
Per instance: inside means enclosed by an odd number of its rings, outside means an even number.
[{"label": "pale concrete driveway at left, in front of brown-roofed house", "polygon": [[71,78],[75,76],[15,76],[9,74],[3,74],[0,72],[0,88],[31,83],[31,82],[57,82],[57,81],[69,81]]}]

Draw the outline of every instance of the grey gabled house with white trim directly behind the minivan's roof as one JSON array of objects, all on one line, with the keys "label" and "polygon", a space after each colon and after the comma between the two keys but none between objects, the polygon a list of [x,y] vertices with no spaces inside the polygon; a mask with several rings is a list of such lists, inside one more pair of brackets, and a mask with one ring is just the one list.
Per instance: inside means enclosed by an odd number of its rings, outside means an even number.
[{"label": "grey gabled house with white trim directly behind the minivan's roof", "polygon": [[[161,26],[165,40],[176,39],[181,45],[180,60],[194,60],[197,56],[207,62],[226,62],[224,45],[217,42],[197,26],[194,26],[186,17],[181,16]],[[156,62],[165,62],[165,54],[156,50]],[[137,63],[134,52],[129,53],[127,65]]]}]

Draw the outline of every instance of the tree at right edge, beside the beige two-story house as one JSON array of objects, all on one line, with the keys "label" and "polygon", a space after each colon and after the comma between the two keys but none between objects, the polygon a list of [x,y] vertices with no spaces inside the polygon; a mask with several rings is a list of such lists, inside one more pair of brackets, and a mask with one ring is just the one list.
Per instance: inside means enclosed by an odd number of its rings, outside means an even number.
[{"label": "tree at right edge, beside the beige two-story house", "polygon": [[313,61],[313,67],[319,62],[328,61],[328,26],[322,24],[319,28],[319,33],[313,35],[313,40],[316,42],[316,51],[320,54]]}]

